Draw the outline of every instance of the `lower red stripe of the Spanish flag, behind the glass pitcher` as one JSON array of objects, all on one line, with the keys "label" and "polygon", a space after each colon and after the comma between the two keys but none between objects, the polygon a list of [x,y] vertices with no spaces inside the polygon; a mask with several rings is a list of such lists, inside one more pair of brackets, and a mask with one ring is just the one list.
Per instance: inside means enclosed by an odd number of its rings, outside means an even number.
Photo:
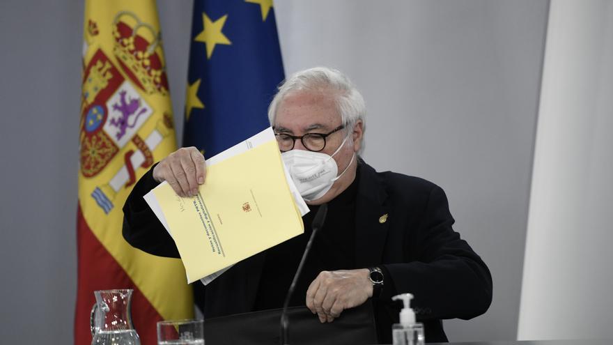
[{"label": "lower red stripe of the Spanish flag, behind the glass pitcher", "polygon": [[[113,231],[117,231],[117,236],[122,236],[121,227]],[[162,320],[162,316],[94,236],[83,217],[81,206],[77,211],[77,260],[75,344],[91,344],[89,316],[91,307],[95,303],[93,291],[106,289],[134,289],[132,295],[134,328],[141,338],[141,344],[157,344],[156,323]]]}]

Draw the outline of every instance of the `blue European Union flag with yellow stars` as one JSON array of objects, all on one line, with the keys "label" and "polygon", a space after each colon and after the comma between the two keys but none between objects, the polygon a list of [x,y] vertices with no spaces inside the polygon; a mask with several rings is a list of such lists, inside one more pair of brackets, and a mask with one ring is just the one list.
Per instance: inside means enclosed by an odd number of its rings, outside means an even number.
[{"label": "blue European Union flag with yellow stars", "polygon": [[194,0],[183,145],[212,157],[267,128],[283,79],[272,0]]}]

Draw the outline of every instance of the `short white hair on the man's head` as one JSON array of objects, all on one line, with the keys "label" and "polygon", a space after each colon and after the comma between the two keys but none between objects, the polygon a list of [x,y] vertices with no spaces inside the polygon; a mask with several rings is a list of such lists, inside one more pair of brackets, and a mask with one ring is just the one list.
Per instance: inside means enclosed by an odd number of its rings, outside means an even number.
[{"label": "short white hair on the man's head", "polygon": [[[274,126],[277,108],[286,95],[295,91],[329,91],[334,95],[336,111],[341,115],[345,130],[350,133],[357,121],[362,121],[362,130],[366,128],[366,104],[362,94],[357,91],[346,75],[339,70],[327,67],[315,67],[301,70],[290,75],[279,85],[279,91],[268,106],[268,120]],[[363,141],[363,140],[362,140]]]}]

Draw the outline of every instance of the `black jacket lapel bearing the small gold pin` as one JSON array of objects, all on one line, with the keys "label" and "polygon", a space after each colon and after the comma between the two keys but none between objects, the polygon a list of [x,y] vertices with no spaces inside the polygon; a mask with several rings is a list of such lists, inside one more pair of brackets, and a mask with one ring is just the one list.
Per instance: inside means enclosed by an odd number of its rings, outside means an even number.
[{"label": "black jacket lapel bearing the small gold pin", "polygon": [[355,206],[355,263],[368,268],[382,262],[389,227],[387,192],[375,169],[359,160],[359,184]]}]

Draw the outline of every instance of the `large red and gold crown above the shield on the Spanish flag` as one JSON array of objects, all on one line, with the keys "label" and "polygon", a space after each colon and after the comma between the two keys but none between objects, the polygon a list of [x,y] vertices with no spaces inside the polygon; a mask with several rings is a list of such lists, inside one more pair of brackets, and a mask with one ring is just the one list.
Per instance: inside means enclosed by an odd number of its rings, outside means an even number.
[{"label": "large red and gold crown above the shield on the Spanish flag", "polygon": [[146,93],[168,93],[162,38],[150,24],[123,11],[113,21],[113,52],[123,71]]}]

